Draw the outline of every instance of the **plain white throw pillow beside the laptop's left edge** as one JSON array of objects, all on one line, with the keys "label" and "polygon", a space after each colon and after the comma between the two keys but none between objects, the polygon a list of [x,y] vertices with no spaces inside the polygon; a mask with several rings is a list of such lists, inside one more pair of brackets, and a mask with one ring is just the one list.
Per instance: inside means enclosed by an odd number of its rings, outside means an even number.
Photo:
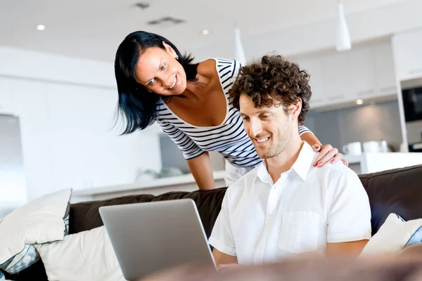
[{"label": "plain white throw pillow beside the laptop's left edge", "polygon": [[49,280],[125,280],[104,226],[35,247]]}]

